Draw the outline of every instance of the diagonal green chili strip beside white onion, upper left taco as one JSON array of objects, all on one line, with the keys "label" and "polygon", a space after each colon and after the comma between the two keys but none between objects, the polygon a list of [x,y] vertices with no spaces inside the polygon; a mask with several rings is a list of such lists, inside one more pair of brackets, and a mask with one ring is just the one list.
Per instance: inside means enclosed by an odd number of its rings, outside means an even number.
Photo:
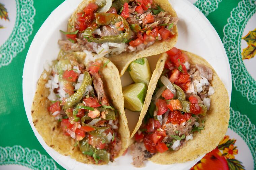
[{"label": "diagonal green chili strip beside white onion, upper left taco", "polygon": [[86,87],[91,83],[92,83],[92,78],[90,74],[86,71],[81,87],[77,90],[76,93],[74,93],[73,95],[71,95],[69,98],[66,99],[66,103],[64,104],[64,109],[66,110],[70,107],[73,107],[77,103],[79,103],[83,97],[83,94],[86,91]]}]

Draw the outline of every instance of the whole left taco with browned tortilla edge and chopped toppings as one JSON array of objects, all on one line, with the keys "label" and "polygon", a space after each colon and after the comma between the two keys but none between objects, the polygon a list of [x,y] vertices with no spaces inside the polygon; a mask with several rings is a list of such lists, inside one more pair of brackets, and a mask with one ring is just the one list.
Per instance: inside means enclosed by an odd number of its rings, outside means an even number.
[{"label": "whole left taco with browned tortilla edge and chopped toppings", "polygon": [[38,80],[33,123],[45,143],[87,164],[107,164],[129,145],[121,80],[106,58],[60,52]]}]

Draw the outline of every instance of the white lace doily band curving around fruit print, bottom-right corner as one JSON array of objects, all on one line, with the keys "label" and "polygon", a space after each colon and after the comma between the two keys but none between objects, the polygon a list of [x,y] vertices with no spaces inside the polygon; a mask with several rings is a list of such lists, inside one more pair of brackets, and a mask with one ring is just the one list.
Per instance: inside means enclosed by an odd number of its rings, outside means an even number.
[{"label": "white lace doily band curving around fruit print, bottom-right corner", "polygon": [[230,120],[229,126],[235,133],[241,136],[249,147],[253,162],[254,168],[256,168],[256,128],[255,125],[251,123],[247,115],[241,114],[238,111],[234,111],[230,107]]}]

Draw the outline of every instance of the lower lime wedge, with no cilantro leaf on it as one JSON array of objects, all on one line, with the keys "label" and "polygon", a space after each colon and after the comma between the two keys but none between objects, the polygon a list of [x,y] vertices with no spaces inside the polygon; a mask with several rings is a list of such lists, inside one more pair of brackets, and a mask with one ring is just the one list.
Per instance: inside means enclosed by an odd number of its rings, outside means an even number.
[{"label": "lower lime wedge, with no cilantro leaf on it", "polygon": [[124,87],[123,94],[124,107],[133,112],[139,112],[147,94],[147,86],[144,83],[134,83]]}]

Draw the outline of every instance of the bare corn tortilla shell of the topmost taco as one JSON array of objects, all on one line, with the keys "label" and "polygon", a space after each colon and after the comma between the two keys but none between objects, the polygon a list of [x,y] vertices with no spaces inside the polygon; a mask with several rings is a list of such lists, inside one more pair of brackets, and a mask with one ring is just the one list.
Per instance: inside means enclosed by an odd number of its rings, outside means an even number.
[{"label": "bare corn tortilla shell of the topmost taco", "polygon": [[[91,2],[95,2],[95,0],[83,0],[81,2],[77,9],[73,12],[71,15],[71,18],[68,20],[68,32],[71,32],[72,26],[75,25],[77,20],[77,13],[82,12],[83,9]],[[171,4],[168,0],[153,0],[156,4],[158,4],[164,11],[168,12],[172,17],[177,17],[176,12],[172,8]],[[177,25],[174,25],[173,27],[173,33],[174,35],[172,38],[164,41],[156,41],[153,45],[147,47],[145,50],[138,51],[136,53],[122,53],[119,55],[110,56],[109,60],[112,61],[118,68],[120,72],[120,76],[122,76],[129,66],[129,64],[138,59],[138,58],[144,58],[149,57],[157,54],[161,54],[165,51],[170,50],[177,42],[178,39],[178,29]]]}]

